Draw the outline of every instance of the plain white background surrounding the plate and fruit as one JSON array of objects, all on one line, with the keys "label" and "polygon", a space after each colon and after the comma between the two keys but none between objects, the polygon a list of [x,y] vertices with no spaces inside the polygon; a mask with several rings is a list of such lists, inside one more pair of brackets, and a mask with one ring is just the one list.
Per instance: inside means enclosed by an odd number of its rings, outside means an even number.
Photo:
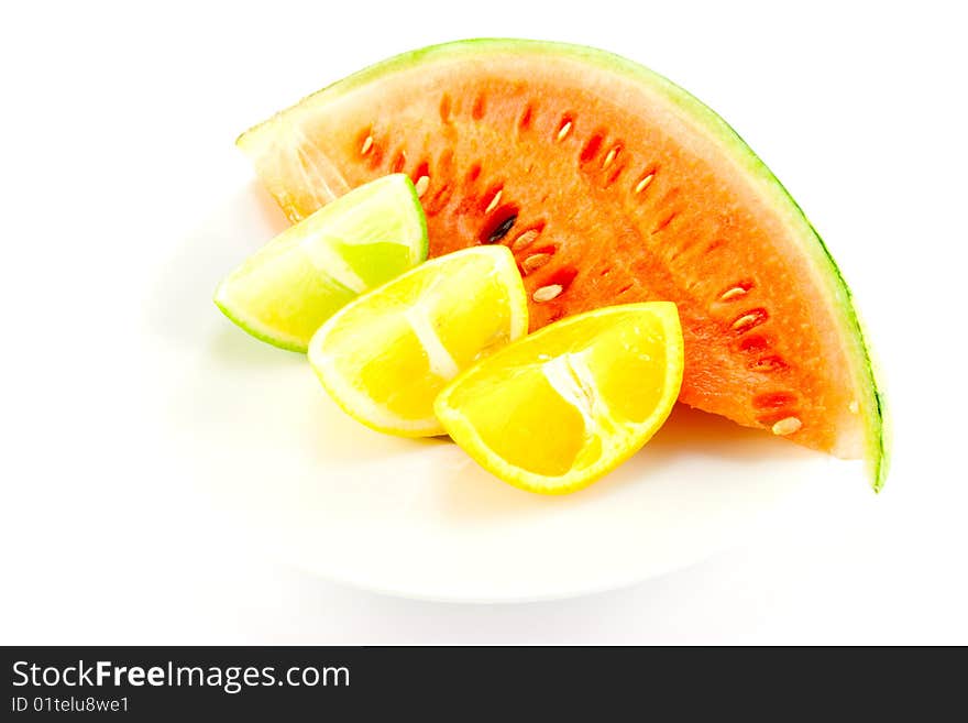
[{"label": "plain white background surrounding the plate and fruit", "polygon": [[[956,7],[6,8],[0,643],[968,643],[968,55]],[[788,516],[625,590],[503,606],[320,580],[206,505],[156,421],[172,380],[151,280],[238,175],[232,141],[372,62],[485,35],[649,65],[767,161],[824,233],[882,358],[895,419],[883,494],[858,478],[822,524]]]}]

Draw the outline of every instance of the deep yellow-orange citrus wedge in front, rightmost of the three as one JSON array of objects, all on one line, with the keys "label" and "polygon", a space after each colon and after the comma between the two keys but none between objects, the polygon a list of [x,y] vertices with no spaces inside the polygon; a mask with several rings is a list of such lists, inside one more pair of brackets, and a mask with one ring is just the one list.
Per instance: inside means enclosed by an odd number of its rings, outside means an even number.
[{"label": "deep yellow-orange citrus wedge in front, rightmost of the three", "polygon": [[515,486],[564,494],[642,447],[669,416],[683,366],[669,302],[562,321],[475,364],[435,405],[448,434]]}]

